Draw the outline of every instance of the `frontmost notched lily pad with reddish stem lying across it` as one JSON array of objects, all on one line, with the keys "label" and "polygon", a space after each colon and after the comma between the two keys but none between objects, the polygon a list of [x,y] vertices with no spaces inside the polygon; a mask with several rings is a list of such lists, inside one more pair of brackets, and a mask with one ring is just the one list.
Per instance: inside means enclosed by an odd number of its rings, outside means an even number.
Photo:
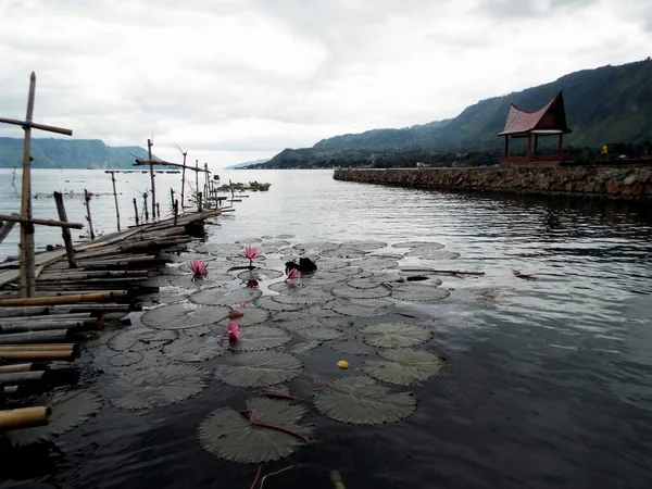
[{"label": "frontmost notched lily pad with reddish stem lying across it", "polygon": [[[201,444],[221,459],[262,463],[289,455],[304,444],[300,437],[312,432],[312,427],[298,424],[305,409],[289,401],[254,398],[247,408],[251,421],[229,408],[213,411],[199,425]],[[252,421],[267,426],[256,426]]]}]

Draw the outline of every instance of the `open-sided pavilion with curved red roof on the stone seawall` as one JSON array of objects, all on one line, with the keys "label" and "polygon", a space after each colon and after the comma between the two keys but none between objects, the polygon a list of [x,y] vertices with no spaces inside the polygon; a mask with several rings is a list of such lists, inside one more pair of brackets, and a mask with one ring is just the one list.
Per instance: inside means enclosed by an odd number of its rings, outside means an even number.
[{"label": "open-sided pavilion with curved red roof on the stone seawall", "polygon": [[[564,135],[570,133],[566,124],[566,111],[564,109],[564,96],[560,91],[543,108],[536,112],[528,112],[513,103],[507,113],[505,127],[499,136],[505,138],[505,151],[500,159],[501,164],[529,164],[546,163],[556,165],[572,160],[563,154]],[[539,138],[556,136],[559,138],[557,152],[555,154],[539,154]],[[527,153],[525,156],[510,155],[510,139],[527,138]]]}]

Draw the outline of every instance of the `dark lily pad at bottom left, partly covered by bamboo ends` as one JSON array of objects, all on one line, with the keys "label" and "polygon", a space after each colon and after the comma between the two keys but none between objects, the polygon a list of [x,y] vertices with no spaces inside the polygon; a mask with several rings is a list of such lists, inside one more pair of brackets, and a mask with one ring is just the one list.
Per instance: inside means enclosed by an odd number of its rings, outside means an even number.
[{"label": "dark lily pad at bottom left, partly covered by bamboo ends", "polygon": [[102,408],[102,398],[91,391],[68,391],[57,393],[49,402],[52,413],[45,426],[14,429],[4,432],[14,446],[25,446],[39,441],[51,441],[86,423]]}]

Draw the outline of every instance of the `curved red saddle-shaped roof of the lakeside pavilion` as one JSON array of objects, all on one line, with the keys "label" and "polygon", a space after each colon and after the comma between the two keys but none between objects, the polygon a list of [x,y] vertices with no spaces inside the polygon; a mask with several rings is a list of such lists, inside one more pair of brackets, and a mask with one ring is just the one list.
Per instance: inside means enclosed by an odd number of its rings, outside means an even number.
[{"label": "curved red saddle-shaped roof of the lakeside pavilion", "polygon": [[548,104],[536,112],[528,112],[513,103],[507,113],[505,127],[499,136],[526,135],[531,131],[540,134],[567,134],[564,97],[560,91]]}]

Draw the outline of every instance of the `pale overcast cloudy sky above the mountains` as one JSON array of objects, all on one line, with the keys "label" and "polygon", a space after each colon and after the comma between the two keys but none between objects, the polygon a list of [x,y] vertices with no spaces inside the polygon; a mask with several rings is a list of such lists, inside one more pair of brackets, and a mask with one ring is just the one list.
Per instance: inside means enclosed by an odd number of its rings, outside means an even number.
[{"label": "pale overcast cloudy sky above the mountains", "polygon": [[0,112],[218,167],[649,55],[651,0],[0,0]]}]

